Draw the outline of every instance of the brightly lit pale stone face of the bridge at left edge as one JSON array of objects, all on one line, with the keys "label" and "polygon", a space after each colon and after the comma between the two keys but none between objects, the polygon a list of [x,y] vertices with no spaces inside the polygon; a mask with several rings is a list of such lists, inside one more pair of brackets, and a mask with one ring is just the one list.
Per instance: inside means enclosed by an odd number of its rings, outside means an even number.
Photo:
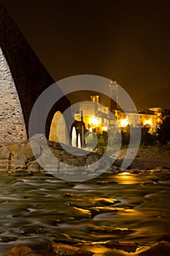
[{"label": "brightly lit pale stone face of the bridge at left edge", "polygon": [[26,127],[7,61],[0,48],[0,140],[26,140]]}]

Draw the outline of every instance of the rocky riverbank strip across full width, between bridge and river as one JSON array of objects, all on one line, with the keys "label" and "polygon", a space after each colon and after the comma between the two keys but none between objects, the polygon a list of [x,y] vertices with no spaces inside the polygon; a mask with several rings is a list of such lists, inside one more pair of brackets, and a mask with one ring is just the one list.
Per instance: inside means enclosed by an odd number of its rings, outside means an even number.
[{"label": "rocky riverbank strip across full width, between bridge and river", "polygon": [[[47,172],[58,178],[68,177],[70,181],[77,178],[77,181],[83,181],[88,176],[89,179],[95,178],[106,170],[107,173],[120,173],[120,166],[127,151],[120,150],[113,165],[113,159],[110,157],[54,141],[45,142],[44,138],[44,135],[34,135],[34,138],[22,143],[0,143],[0,171],[30,173],[43,171],[44,167]],[[31,146],[34,148],[34,154]],[[164,172],[169,172],[169,148],[164,148],[163,151],[158,147],[139,148],[129,169],[131,173],[138,174],[141,170],[158,171],[158,166],[160,170],[165,167]]]}]

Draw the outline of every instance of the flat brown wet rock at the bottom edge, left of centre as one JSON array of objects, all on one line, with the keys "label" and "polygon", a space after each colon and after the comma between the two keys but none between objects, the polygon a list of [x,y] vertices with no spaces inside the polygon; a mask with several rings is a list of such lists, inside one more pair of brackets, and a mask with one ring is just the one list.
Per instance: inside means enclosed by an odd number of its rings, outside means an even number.
[{"label": "flat brown wet rock at the bottom edge, left of centre", "polygon": [[52,252],[56,252],[60,256],[91,256],[93,252],[85,249],[80,249],[75,246],[70,246],[67,244],[55,244],[50,242],[48,244],[48,249]]}]

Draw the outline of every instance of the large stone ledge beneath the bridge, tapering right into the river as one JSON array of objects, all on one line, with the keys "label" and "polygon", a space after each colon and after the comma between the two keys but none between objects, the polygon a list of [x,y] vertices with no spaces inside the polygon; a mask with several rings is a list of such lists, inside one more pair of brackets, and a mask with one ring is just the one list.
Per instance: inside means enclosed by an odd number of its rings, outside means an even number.
[{"label": "large stone ledge beneath the bridge, tapering right into the river", "polygon": [[109,157],[101,159],[97,153],[47,141],[43,135],[34,135],[22,143],[0,144],[0,171],[30,173],[45,168],[58,177],[74,179],[78,175],[77,180],[81,181],[81,176],[98,176],[99,170],[104,172],[110,165]]}]

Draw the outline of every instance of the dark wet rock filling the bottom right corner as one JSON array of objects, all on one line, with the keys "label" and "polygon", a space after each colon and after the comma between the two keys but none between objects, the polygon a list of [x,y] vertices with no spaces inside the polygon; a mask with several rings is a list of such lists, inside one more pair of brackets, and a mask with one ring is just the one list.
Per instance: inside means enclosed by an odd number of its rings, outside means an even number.
[{"label": "dark wet rock filling the bottom right corner", "polygon": [[[143,249],[142,249],[143,251]],[[140,253],[139,256],[170,256],[170,243],[166,241],[161,241],[158,244],[154,244],[147,247],[144,252]]]}]

